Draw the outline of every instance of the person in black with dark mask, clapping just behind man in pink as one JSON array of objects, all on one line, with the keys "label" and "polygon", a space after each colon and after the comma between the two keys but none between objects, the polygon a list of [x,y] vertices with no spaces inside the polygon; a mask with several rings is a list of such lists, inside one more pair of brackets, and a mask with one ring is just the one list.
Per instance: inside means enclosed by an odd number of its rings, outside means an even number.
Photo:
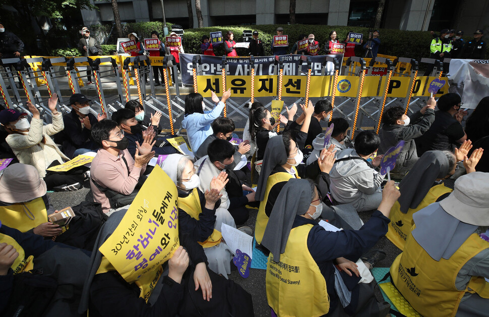
[{"label": "person in black with dark mask, clapping just behind man in pink", "polygon": [[[117,127],[119,127],[120,130],[124,131],[124,135],[128,140],[128,151],[133,157],[136,153],[136,148],[138,147],[146,148],[148,151],[154,151],[155,155],[177,152],[177,150],[166,140],[167,138],[162,137],[156,140],[156,132],[154,131],[153,126],[143,130],[141,123],[136,120],[132,110],[119,109],[112,114],[111,119],[117,123]],[[154,141],[150,141],[150,139],[154,139]]]}]

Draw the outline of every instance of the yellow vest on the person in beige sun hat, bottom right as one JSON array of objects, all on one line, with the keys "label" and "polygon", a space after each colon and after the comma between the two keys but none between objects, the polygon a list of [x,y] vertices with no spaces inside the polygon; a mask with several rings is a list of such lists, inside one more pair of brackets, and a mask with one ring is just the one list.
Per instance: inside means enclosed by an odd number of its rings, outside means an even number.
[{"label": "yellow vest on the person in beige sun hat, bottom right", "polygon": [[392,282],[423,316],[455,316],[465,293],[477,293],[482,298],[489,298],[489,283],[482,277],[472,277],[464,290],[455,287],[460,269],[487,248],[489,242],[474,233],[450,259],[436,261],[409,235],[404,251],[392,263]]}]

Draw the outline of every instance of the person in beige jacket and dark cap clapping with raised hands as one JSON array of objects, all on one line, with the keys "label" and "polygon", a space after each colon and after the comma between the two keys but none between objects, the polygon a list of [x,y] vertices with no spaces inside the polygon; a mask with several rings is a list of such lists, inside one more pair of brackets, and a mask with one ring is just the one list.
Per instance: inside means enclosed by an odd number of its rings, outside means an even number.
[{"label": "person in beige jacket and dark cap clapping with raised hands", "polygon": [[67,172],[46,171],[49,167],[63,164],[69,158],[57,147],[50,136],[64,129],[63,116],[56,110],[57,96],[49,99],[48,108],[52,114],[52,124],[44,125],[36,106],[27,102],[32,113],[29,124],[27,114],[14,109],[0,112],[0,123],[9,133],[7,143],[22,164],[34,166],[39,176],[46,182],[47,188],[55,191],[80,189],[87,177],[85,168],[75,168]]}]

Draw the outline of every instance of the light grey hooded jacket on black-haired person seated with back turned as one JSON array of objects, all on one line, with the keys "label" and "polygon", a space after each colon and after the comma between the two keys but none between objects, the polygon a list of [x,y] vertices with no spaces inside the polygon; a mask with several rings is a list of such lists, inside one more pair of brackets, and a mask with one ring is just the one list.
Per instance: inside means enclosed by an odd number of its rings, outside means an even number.
[{"label": "light grey hooded jacket on black-haired person seated with back turned", "polygon": [[[360,155],[354,149],[347,148],[339,152],[336,158],[339,160],[348,156]],[[354,202],[362,195],[375,193],[385,177],[360,158],[335,163],[329,176],[331,193],[341,203]]]}]

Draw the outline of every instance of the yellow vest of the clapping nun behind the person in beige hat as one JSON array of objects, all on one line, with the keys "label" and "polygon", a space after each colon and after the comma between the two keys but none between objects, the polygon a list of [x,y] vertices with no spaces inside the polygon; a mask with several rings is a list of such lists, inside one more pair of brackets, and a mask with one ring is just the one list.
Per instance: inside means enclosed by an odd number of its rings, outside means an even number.
[{"label": "yellow vest of the clapping nun behind the person in beige hat", "polygon": [[444,184],[439,184],[430,188],[426,196],[424,196],[423,200],[418,204],[418,206],[414,209],[409,208],[407,213],[404,214],[401,212],[401,205],[398,201],[394,203],[391,208],[391,213],[389,215],[389,219],[391,222],[389,223],[389,231],[387,231],[386,237],[391,240],[399,249],[404,249],[404,244],[406,243],[406,238],[411,232],[411,228],[414,225],[412,220],[412,215],[437,201],[440,196],[452,192],[451,188],[446,187]]}]

